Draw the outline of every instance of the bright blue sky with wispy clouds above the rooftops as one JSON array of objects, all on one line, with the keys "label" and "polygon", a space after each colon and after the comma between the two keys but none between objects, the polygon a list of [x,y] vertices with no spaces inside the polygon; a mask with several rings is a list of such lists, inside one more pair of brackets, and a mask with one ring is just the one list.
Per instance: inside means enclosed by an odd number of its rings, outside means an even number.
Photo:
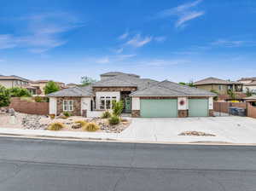
[{"label": "bright blue sky with wispy clouds above the rooftops", "polygon": [[79,83],[108,71],[175,82],[256,76],[254,0],[9,0],[0,74]]}]

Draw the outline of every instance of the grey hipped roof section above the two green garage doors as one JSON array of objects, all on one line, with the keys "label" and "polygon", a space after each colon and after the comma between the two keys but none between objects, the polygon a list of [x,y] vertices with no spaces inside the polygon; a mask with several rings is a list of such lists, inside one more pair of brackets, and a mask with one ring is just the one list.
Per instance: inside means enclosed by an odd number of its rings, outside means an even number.
[{"label": "grey hipped roof section above the two green garage doors", "polygon": [[165,80],[143,90],[137,90],[130,96],[216,96],[216,94]]}]

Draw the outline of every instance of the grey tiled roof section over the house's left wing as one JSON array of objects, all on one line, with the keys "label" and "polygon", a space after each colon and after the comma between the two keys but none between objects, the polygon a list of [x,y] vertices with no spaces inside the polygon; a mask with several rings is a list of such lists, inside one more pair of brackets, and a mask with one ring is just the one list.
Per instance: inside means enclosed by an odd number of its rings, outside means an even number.
[{"label": "grey tiled roof section over the house's left wing", "polygon": [[93,96],[91,86],[73,87],[56,91],[47,96]]}]

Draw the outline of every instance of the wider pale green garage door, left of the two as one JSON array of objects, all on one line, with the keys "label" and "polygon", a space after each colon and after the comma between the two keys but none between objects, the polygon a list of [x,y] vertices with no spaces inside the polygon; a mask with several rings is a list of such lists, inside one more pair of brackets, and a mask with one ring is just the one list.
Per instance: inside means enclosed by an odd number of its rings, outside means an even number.
[{"label": "wider pale green garage door, left of the two", "polygon": [[177,118],[177,99],[142,99],[143,118]]}]

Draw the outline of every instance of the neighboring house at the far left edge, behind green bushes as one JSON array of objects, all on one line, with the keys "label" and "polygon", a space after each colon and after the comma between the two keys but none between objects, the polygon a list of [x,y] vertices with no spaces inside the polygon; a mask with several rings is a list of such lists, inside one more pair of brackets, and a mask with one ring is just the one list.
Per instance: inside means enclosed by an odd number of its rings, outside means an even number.
[{"label": "neighboring house at the far left edge, behind green bushes", "polygon": [[26,88],[30,91],[32,95],[36,95],[38,90],[36,87],[33,87],[30,84],[30,80],[26,78],[21,78],[19,76],[11,75],[11,76],[3,76],[0,75],[0,85],[3,85],[5,88]]}]

